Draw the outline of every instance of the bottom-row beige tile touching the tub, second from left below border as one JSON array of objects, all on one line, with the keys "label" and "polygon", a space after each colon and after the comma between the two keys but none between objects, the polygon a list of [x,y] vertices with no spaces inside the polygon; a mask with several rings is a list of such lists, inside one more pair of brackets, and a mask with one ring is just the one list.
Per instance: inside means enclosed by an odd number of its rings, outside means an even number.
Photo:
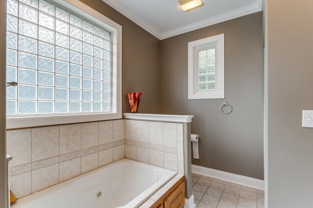
[{"label": "bottom-row beige tile touching the tub, second from left below border", "polygon": [[59,164],[34,170],[31,173],[31,192],[48,188],[59,183]]}]

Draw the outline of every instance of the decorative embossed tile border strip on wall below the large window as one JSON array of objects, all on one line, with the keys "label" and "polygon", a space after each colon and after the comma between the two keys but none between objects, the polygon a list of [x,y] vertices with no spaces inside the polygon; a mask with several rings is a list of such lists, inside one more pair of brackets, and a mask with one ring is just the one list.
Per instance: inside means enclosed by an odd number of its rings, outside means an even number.
[{"label": "decorative embossed tile border strip on wall below the large window", "polygon": [[72,160],[81,156],[92,154],[98,151],[107,150],[107,149],[121,146],[124,144],[125,144],[125,140],[123,139],[123,140],[110,142],[108,144],[98,145],[98,146],[90,147],[90,148],[79,150],[79,151],[73,151],[73,152],[69,152],[66,154],[49,157],[49,158],[45,158],[42,160],[37,160],[31,163],[25,163],[22,165],[13,166],[13,167],[10,167],[10,176],[19,175],[19,174],[29,172],[32,170],[38,170],[38,169],[55,165],[61,162],[65,162],[67,160]]}]

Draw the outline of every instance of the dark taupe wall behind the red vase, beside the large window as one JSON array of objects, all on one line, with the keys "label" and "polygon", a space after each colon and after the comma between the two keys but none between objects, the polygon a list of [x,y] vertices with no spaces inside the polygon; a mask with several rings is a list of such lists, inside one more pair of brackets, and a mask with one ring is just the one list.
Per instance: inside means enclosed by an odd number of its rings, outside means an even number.
[{"label": "dark taupe wall behind the red vase, beside the large window", "polygon": [[160,113],[160,41],[101,0],[81,0],[122,25],[122,111],[127,93],[142,92],[138,113]]}]

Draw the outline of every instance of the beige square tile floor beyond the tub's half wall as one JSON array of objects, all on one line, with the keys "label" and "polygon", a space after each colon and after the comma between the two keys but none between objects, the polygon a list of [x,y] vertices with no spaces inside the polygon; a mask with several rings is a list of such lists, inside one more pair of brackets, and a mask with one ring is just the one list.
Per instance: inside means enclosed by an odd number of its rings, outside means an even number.
[{"label": "beige square tile floor beyond the tub's half wall", "polygon": [[196,208],[264,208],[264,191],[192,173]]}]

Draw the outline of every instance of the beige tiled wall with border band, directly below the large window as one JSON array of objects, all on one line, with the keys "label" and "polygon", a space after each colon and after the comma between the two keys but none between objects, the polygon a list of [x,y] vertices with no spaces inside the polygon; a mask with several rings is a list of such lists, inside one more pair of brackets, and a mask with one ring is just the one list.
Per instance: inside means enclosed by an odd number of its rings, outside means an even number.
[{"label": "beige tiled wall with border band, directly below the large window", "polygon": [[124,144],[124,119],[7,131],[11,189],[21,198],[105,166]]}]

